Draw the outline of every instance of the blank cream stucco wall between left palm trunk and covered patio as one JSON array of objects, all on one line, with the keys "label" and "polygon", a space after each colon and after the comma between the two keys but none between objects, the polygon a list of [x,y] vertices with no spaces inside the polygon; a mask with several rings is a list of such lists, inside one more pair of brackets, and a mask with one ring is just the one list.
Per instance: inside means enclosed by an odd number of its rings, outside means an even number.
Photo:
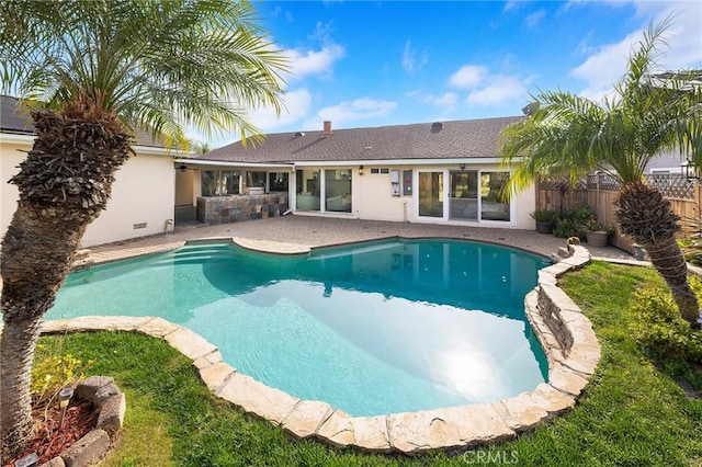
[{"label": "blank cream stucco wall between left palm trunk and covered patio", "polygon": [[86,230],[83,247],[166,231],[173,219],[174,174],[170,157],[137,150],[117,171],[107,208]]}]

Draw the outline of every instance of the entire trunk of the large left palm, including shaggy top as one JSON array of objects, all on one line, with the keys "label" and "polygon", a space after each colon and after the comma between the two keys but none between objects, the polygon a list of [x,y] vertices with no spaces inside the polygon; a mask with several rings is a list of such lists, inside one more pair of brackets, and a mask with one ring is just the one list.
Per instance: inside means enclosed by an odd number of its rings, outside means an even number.
[{"label": "entire trunk of the large left palm, including shaggy top", "polygon": [[52,307],[88,225],[104,209],[114,172],[132,152],[114,114],[88,100],[33,113],[36,140],[10,182],[18,209],[2,239],[0,441],[16,455],[32,435],[31,369]]}]

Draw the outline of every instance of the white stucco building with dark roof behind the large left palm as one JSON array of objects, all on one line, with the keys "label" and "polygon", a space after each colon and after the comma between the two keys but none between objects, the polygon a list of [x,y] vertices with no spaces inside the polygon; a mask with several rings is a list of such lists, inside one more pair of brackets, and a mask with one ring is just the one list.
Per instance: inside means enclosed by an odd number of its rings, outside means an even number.
[{"label": "white stucco building with dark roof behind the large left palm", "polygon": [[[18,190],[8,181],[34,143],[29,117],[16,107],[16,100],[0,96],[0,236],[16,209]],[[83,236],[90,247],[134,237],[161,234],[173,226],[173,157],[149,140],[140,138],[131,158],[116,173],[107,208]]]}]

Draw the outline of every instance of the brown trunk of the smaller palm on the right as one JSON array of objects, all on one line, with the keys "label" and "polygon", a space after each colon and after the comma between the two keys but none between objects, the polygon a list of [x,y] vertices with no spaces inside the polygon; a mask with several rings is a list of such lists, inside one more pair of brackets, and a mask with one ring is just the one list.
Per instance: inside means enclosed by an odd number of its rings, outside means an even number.
[{"label": "brown trunk of the smaller palm on the right", "polygon": [[688,283],[688,264],[676,241],[680,217],[670,202],[655,187],[644,183],[627,183],[614,203],[622,234],[632,237],[646,249],[656,271],[670,288],[680,315],[698,328],[698,298]]}]

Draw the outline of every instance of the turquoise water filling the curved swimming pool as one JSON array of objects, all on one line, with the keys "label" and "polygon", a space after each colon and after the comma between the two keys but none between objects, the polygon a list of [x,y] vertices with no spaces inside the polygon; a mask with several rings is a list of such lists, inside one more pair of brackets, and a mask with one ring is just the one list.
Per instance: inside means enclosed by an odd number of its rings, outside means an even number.
[{"label": "turquoise water filling the curved swimming pool", "polygon": [[388,240],[281,257],[186,246],[72,273],[46,319],[158,316],[240,373],[354,417],[495,401],[544,381],[524,317],[540,257]]}]

